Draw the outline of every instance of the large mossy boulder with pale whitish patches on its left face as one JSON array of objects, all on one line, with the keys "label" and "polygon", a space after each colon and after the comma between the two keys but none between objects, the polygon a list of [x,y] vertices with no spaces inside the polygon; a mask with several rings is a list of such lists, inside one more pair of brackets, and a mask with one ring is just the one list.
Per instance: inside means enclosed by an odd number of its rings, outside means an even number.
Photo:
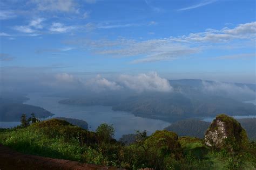
[{"label": "large mossy boulder with pale whitish patches on its left face", "polygon": [[217,149],[237,151],[248,146],[246,131],[234,118],[218,115],[205,133],[205,144]]}]

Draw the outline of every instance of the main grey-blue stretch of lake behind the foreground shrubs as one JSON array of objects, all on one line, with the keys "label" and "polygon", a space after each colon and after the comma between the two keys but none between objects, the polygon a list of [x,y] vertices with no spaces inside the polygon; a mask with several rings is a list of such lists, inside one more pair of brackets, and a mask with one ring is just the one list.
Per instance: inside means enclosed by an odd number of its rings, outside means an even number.
[{"label": "main grey-blue stretch of lake behind the foreground shrubs", "polygon": [[[52,114],[53,117],[68,117],[82,119],[88,123],[89,130],[95,131],[102,123],[113,124],[116,130],[115,138],[119,139],[122,134],[134,133],[137,130],[147,130],[149,134],[156,130],[162,130],[170,125],[169,122],[150,118],[136,117],[129,112],[113,111],[112,107],[106,106],[79,106],[60,104],[58,101],[64,98],[49,97],[39,94],[29,94],[30,100],[24,104],[42,107]],[[18,122],[16,122],[17,125]],[[12,124],[15,124],[12,122]],[[18,123],[19,124],[19,123]]]}]

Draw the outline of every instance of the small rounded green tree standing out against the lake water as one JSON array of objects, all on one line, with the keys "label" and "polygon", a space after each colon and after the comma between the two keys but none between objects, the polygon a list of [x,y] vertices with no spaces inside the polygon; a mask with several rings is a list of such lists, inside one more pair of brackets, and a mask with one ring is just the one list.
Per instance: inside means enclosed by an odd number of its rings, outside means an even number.
[{"label": "small rounded green tree standing out against the lake water", "polygon": [[103,141],[110,141],[114,137],[114,127],[113,125],[103,123],[98,126],[96,133]]}]

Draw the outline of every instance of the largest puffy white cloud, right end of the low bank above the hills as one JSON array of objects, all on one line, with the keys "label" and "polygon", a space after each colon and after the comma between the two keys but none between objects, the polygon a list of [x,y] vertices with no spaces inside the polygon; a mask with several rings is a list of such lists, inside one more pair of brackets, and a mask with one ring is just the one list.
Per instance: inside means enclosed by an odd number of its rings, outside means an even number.
[{"label": "largest puffy white cloud, right end of the low bank above the hills", "polygon": [[120,75],[118,81],[124,87],[142,91],[172,91],[169,81],[158,76],[156,72],[138,75]]}]

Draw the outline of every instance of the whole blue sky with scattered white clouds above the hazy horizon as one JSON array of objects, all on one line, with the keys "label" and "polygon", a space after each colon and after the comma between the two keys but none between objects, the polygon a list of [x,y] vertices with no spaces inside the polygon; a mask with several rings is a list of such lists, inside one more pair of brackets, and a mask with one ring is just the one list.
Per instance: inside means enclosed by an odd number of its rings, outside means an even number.
[{"label": "whole blue sky with scattered white clouds above the hazy horizon", "polygon": [[256,83],[253,0],[3,0],[0,23],[8,79]]}]

